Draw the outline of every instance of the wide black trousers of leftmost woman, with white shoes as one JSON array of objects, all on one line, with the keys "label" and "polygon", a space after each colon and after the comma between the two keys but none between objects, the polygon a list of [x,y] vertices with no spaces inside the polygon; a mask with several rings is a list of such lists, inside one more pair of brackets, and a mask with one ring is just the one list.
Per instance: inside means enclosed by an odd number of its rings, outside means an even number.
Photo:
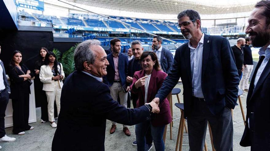
[{"label": "wide black trousers of leftmost woman, with white shoes", "polygon": [[21,90],[17,99],[12,99],[13,108],[13,133],[18,134],[22,131],[29,130],[29,92]]}]

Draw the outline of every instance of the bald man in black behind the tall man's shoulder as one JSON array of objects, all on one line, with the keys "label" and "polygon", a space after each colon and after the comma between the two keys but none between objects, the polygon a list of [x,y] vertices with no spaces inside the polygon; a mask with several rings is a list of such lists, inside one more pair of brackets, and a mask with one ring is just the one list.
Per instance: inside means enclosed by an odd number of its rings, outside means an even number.
[{"label": "bald man in black behind the tall man's shoulder", "polygon": [[244,63],[244,49],[243,46],[245,46],[245,38],[238,38],[237,44],[232,46],[233,50],[233,56],[235,59],[235,64],[238,70],[239,77],[242,75],[242,71],[244,69],[243,63]]}]

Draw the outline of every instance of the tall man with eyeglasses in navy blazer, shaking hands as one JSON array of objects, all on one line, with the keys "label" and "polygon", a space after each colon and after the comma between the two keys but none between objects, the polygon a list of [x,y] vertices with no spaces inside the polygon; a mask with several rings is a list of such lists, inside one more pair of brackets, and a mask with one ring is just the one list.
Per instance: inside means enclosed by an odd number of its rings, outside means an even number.
[{"label": "tall man with eyeglasses in navy blazer, shaking hands", "polygon": [[178,28],[190,41],[176,50],[172,70],[153,101],[159,104],[181,77],[190,150],[203,150],[209,122],[215,149],[232,151],[231,109],[237,101],[239,76],[229,41],[202,33],[195,10],[184,10],[177,19]]}]

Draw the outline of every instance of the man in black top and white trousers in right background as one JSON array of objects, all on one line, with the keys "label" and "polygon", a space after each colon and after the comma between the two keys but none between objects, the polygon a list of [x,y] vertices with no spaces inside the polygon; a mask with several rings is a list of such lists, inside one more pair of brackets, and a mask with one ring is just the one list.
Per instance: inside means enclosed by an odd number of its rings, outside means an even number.
[{"label": "man in black top and white trousers in right background", "polygon": [[251,40],[249,37],[245,38],[246,44],[244,47],[244,70],[243,70],[243,75],[240,81],[240,88],[243,91],[248,92],[249,91],[249,77],[252,73],[253,70],[253,58],[252,58],[252,52],[250,49],[250,46],[252,44]]}]

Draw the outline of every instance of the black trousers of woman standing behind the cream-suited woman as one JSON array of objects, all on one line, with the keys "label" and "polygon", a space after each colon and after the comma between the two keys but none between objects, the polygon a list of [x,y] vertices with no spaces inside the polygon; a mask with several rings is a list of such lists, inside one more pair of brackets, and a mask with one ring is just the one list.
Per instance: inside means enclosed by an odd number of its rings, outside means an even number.
[{"label": "black trousers of woman standing behind the cream-suited woman", "polygon": [[[48,121],[48,101],[47,101],[47,96],[45,91],[41,90],[41,119],[44,121]],[[57,107],[56,107],[56,102],[54,102],[54,117],[57,117]]]}]

